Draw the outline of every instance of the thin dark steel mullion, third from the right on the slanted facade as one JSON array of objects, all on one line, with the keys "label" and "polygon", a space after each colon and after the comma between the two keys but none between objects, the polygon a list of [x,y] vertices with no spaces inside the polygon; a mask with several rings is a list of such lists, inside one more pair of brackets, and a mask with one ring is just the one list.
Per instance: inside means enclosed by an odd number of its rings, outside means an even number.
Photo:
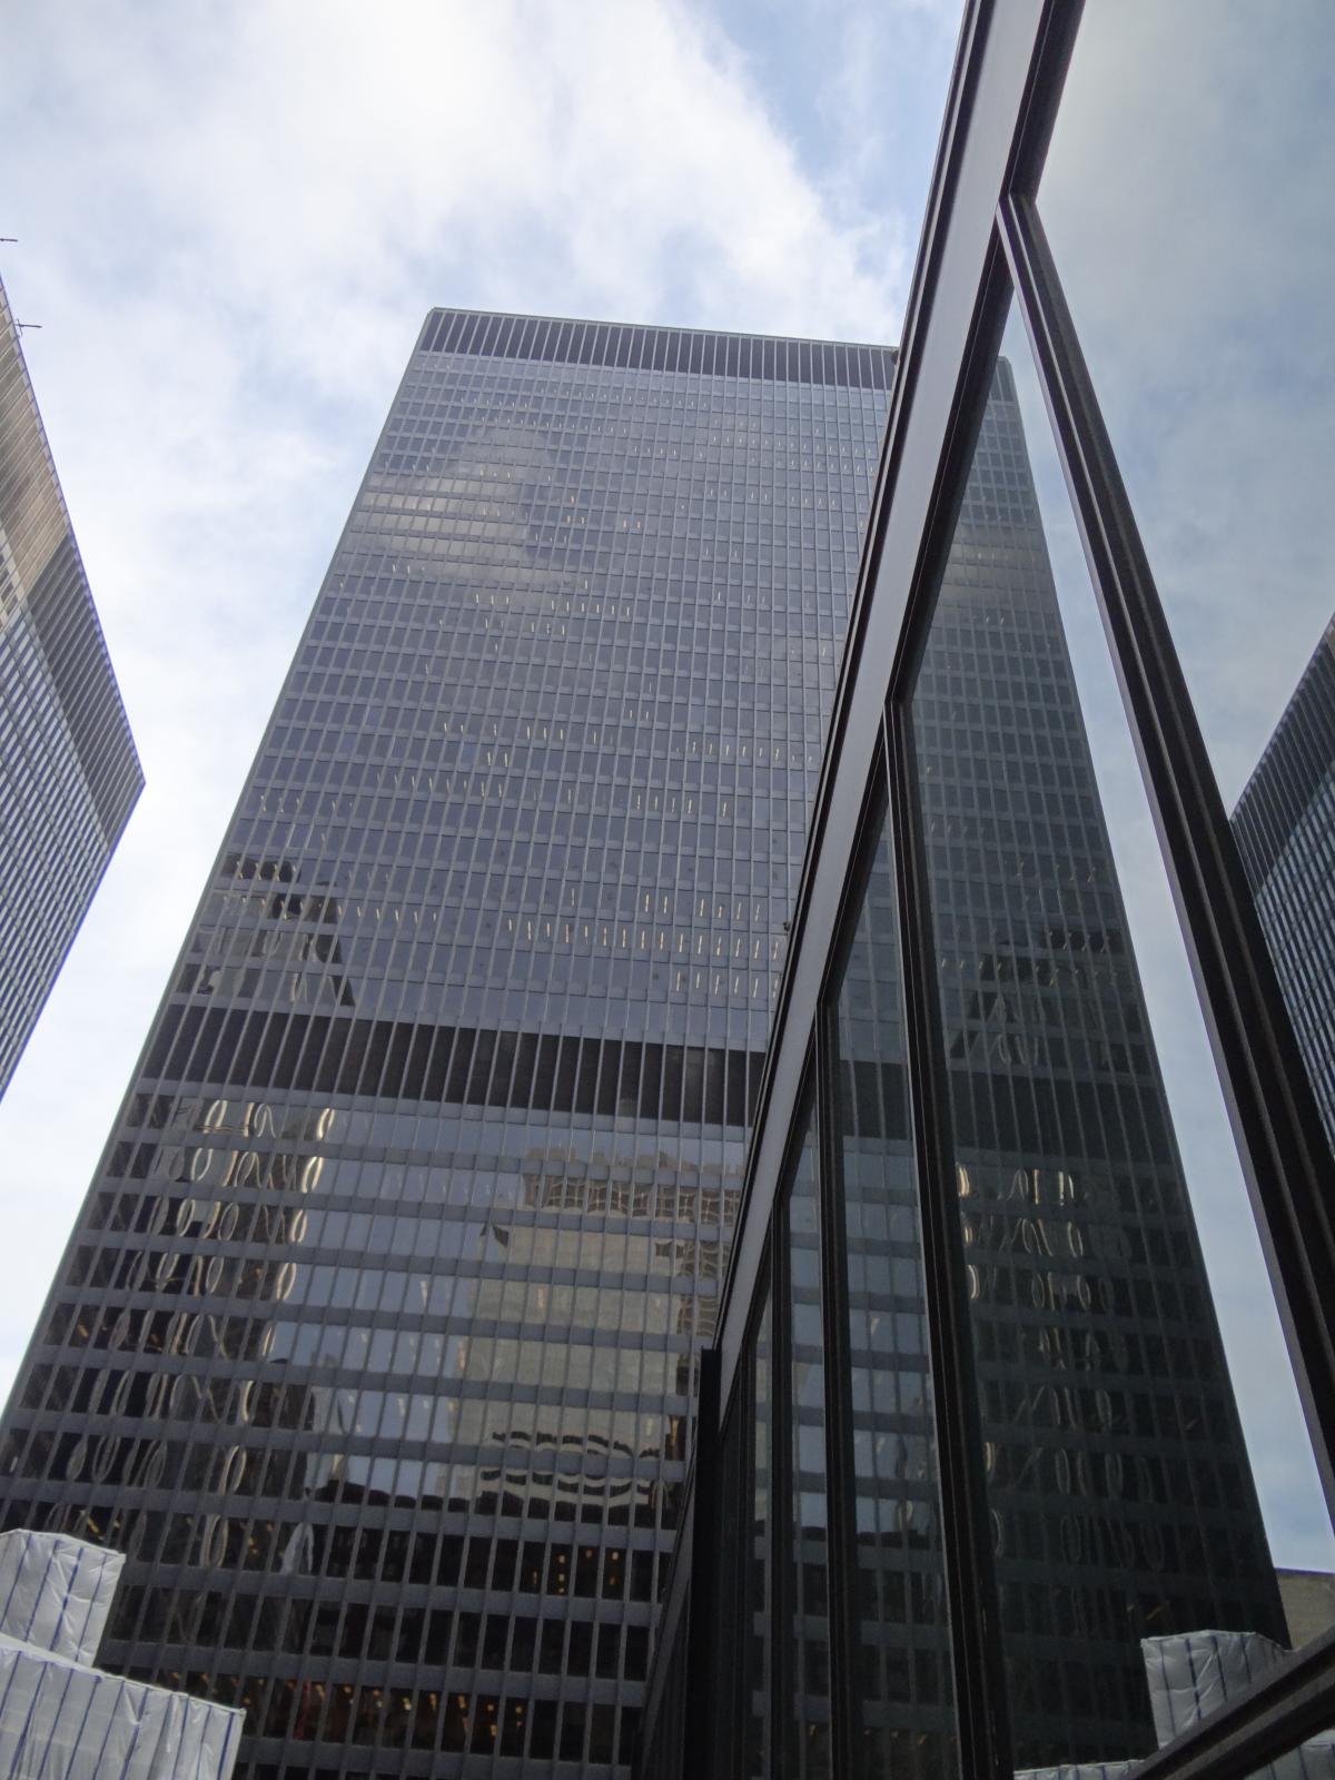
[{"label": "thin dark steel mullion, third from the right on the slanted facade", "polygon": [[[865,826],[862,829],[865,835]],[[860,837],[862,846],[862,837]],[[835,979],[837,981],[837,979]],[[858,1527],[853,1468],[853,1378],[849,1342],[844,1157],[838,1141],[837,1013],[829,990],[815,1020],[817,1218],[821,1225],[821,1319],[826,1360],[826,1508],[829,1520],[829,1766],[858,1773],[862,1700],[858,1650]]]}]

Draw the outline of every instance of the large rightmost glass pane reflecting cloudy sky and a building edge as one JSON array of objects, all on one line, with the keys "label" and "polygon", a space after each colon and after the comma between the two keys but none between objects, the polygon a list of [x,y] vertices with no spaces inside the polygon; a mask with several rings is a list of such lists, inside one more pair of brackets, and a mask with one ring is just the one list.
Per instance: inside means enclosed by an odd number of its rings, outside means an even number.
[{"label": "large rightmost glass pane reflecting cloudy sky and a building edge", "polygon": [[1040,187],[1331,1136],[1333,64],[1328,0],[1093,0]]}]

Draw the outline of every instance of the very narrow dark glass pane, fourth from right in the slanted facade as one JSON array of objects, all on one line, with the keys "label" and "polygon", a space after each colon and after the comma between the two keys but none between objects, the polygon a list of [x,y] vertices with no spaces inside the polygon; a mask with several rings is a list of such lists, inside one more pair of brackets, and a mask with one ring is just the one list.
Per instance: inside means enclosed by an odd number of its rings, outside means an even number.
[{"label": "very narrow dark glass pane, fourth from right in the slanted facade", "polygon": [[792,1274],[792,1718],[787,1771],[829,1780],[829,1531],[826,1511],[826,1351],[815,1129],[789,1191]]}]

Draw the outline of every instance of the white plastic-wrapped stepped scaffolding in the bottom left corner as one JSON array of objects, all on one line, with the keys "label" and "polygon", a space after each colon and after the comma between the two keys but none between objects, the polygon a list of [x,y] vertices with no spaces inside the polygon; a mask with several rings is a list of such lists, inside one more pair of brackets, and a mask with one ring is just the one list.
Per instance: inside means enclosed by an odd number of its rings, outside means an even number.
[{"label": "white plastic-wrapped stepped scaffolding in the bottom left corner", "polygon": [[0,1534],[0,1780],[230,1780],[242,1712],[93,1668],[121,1565]]}]

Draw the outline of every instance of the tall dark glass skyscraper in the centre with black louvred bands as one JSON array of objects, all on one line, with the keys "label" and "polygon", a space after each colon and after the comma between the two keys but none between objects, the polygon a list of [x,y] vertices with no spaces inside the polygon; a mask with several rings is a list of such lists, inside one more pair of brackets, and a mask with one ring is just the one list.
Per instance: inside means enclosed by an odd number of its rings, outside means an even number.
[{"label": "tall dark glass skyscraper in the centre with black louvred bands", "polygon": [[628,1757],[879,347],[434,312],[4,1436],[242,1768]]}]

